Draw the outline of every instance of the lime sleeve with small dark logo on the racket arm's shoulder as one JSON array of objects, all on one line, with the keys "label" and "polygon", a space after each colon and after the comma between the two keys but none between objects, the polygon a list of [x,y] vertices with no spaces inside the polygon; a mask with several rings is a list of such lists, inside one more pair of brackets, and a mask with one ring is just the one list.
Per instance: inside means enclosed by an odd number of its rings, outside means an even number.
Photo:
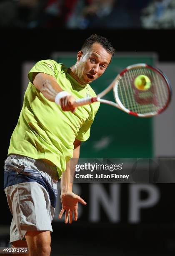
[{"label": "lime sleeve with small dark logo on the racket arm's shoulder", "polygon": [[[53,77],[56,78],[57,73],[59,72],[58,70],[58,65],[56,65],[56,61],[53,61],[51,59],[46,59],[42,61],[38,61],[34,67],[30,70],[28,73],[28,79],[30,80],[31,83],[33,83],[33,73],[34,72],[42,72],[45,74],[49,74]],[[61,65],[59,65],[61,66]]]}]

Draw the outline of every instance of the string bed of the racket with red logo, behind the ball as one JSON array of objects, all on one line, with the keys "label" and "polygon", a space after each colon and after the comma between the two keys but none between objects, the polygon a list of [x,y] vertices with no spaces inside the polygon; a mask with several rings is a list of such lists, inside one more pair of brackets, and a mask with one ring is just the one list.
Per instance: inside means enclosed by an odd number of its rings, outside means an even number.
[{"label": "string bed of the racket with red logo, behind the ball", "polygon": [[[149,77],[151,86],[148,90],[138,90],[134,80],[139,75]],[[167,103],[169,92],[165,79],[148,67],[137,67],[125,72],[118,86],[114,88],[121,104],[128,110],[145,114],[160,111]]]}]

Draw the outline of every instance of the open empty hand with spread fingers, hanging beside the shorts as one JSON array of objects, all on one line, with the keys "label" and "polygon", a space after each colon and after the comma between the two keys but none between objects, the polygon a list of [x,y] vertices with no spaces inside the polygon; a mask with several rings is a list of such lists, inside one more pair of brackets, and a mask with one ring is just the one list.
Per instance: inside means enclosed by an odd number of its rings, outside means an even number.
[{"label": "open empty hand with spread fingers, hanging beside the shorts", "polygon": [[68,223],[68,219],[69,223],[72,223],[72,217],[74,213],[74,220],[76,221],[78,215],[78,202],[80,202],[82,205],[86,205],[86,202],[73,192],[61,193],[60,197],[62,202],[62,210],[60,211],[58,218],[60,219],[65,212],[65,223]]}]

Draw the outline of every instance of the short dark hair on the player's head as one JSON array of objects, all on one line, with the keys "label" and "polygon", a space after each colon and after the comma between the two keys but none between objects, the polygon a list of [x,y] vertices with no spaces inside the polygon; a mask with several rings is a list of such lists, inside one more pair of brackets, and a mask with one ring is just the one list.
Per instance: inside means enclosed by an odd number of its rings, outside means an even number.
[{"label": "short dark hair on the player's head", "polygon": [[111,56],[115,54],[115,49],[110,43],[110,41],[107,40],[107,38],[103,36],[99,36],[97,34],[93,34],[90,37],[88,37],[85,42],[82,45],[81,51],[83,53],[86,53],[93,44],[98,43],[101,44],[101,46],[109,53]]}]

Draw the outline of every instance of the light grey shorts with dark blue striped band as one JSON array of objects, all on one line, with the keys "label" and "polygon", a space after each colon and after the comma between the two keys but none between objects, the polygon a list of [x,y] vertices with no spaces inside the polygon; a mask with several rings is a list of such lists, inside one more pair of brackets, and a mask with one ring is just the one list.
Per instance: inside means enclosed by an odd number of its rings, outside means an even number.
[{"label": "light grey shorts with dark blue striped band", "polygon": [[10,154],[5,160],[4,189],[13,215],[10,243],[32,230],[52,231],[58,174],[41,159]]}]

